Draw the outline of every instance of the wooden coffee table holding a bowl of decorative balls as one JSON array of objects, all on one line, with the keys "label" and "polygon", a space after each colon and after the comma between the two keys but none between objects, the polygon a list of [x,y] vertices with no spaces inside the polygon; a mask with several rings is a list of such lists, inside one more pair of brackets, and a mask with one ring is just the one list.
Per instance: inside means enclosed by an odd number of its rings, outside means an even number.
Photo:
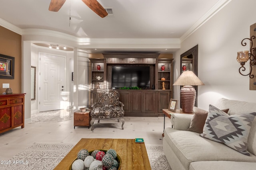
[{"label": "wooden coffee table holding a bowl of decorative balls", "polygon": [[151,170],[146,146],[135,143],[135,139],[85,139],[82,138],[76,146],[54,168],[55,170],[69,170],[81,149],[114,149],[122,160],[122,170]]}]

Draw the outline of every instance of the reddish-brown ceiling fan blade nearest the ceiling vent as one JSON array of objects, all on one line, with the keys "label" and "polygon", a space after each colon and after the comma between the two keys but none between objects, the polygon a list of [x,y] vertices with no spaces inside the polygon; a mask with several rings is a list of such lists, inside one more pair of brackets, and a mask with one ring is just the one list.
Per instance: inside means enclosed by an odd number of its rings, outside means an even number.
[{"label": "reddish-brown ceiling fan blade nearest the ceiling vent", "polygon": [[82,0],[91,10],[93,10],[98,16],[104,18],[108,15],[108,12],[100,5],[97,0]]}]

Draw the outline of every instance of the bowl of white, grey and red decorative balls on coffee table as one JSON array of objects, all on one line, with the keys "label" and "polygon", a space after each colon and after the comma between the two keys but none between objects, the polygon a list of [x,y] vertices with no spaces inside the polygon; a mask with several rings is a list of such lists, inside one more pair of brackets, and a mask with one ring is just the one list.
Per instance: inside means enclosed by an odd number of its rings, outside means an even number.
[{"label": "bowl of white, grey and red decorative balls on coffee table", "polygon": [[96,169],[97,167],[120,170],[121,166],[122,160],[114,149],[90,151],[81,149],[77,154],[77,158],[70,165],[69,170]]}]

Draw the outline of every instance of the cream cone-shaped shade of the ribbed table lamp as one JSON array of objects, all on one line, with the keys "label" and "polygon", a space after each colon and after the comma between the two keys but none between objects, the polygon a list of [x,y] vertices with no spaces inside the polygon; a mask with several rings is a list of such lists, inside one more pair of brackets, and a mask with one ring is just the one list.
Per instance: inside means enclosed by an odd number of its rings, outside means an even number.
[{"label": "cream cone-shaped shade of the ribbed table lamp", "polygon": [[174,82],[174,86],[200,86],[204,83],[192,71],[184,71]]}]

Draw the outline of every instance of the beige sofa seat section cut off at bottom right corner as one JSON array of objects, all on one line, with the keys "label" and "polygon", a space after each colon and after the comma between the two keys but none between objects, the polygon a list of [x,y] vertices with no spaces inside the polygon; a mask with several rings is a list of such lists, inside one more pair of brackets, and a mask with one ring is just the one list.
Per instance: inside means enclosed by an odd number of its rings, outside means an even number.
[{"label": "beige sofa seat section cut off at bottom right corner", "polygon": [[255,170],[256,162],[199,161],[192,162],[189,170]]}]

